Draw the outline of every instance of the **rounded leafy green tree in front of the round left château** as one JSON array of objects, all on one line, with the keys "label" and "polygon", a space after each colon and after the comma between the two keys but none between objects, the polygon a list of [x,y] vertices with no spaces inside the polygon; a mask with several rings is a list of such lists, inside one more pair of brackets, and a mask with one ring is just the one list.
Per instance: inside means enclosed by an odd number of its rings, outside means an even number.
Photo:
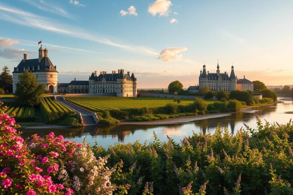
[{"label": "rounded leafy green tree in front of the round left ch\u00e2teau", "polygon": [[18,103],[26,106],[39,104],[41,95],[45,92],[45,85],[38,84],[37,78],[27,70],[20,74],[16,84],[15,96]]}]

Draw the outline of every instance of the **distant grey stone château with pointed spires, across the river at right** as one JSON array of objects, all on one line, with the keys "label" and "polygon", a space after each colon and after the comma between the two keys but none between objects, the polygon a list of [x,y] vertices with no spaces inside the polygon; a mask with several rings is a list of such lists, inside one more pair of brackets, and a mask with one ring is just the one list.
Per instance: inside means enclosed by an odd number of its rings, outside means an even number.
[{"label": "distant grey stone ch\u00e2teau with pointed spires, across the river at right", "polygon": [[206,71],[205,65],[203,65],[203,70],[200,70],[199,76],[199,89],[208,86],[211,90],[218,92],[221,90],[232,91],[236,90],[236,76],[234,73],[234,66],[231,66],[230,76],[227,72],[220,73],[219,63],[217,65],[216,73],[209,73]]}]

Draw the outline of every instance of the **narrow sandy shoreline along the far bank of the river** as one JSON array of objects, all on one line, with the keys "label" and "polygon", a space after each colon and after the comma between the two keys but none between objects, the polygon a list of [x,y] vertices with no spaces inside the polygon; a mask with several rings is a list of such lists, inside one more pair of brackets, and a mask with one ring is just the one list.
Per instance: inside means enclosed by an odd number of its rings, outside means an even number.
[{"label": "narrow sandy shoreline along the far bank of the river", "polygon": [[[282,101],[278,101],[277,103],[283,103]],[[275,103],[270,103],[266,105],[260,105],[260,106],[271,106]],[[248,106],[246,108],[243,108],[239,112],[247,111],[250,108],[256,108],[260,106]],[[233,112],[235,113],[235,112]],[[168,118],[168,119],[161,119],[161,120],[151,120],[151,121],[137,121],[137,122],[119,122],[117,124],[113,125],[162,125],[162,124],[174,124],[174,123],[182,123],[182,122],[191,122],[195,120],[202,120],[202,119],[209,119],[209,118],[218,118],[223,116],[229,116],[233,113],[218,113],[218,114],[205,114],[205,115],[194,115],[194,116],[182,116],[177,118]],[[107,125],[107,126],[113,126],[113,125]],[[101,125],[102,126],[102,125]],[[104,126],[104,125],[103,125]],[[74,127],[67,127],[67,126],[61,126],[61,125],[37,125],[37,126],[30,126],[30,127],[21,127],[20,129],[61,129],[61,128],[74,128]],[[78,127],[75,127],[78,128]]]}]

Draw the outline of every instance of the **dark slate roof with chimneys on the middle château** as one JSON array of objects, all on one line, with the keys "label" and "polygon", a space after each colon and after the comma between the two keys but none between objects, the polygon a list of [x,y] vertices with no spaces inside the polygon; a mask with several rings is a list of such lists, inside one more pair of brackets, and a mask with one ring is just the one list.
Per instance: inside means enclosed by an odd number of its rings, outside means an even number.
[{"label": "dark slate roof with chimneys on the middle ch\u00e2teau", "polygon": [[95,80],[95,81],[102,81],[103,78],[105,78],[106,81],[116,81],[117,79],[126,79],[126,80],[137,80],[132,73],[132,75],[127,75],[120,71],[120,73],[109,73],[109,74],[100,74],[100,75],[95,75],[95,73],[92,73],[91,76],[89,77],[90,80]]}]

